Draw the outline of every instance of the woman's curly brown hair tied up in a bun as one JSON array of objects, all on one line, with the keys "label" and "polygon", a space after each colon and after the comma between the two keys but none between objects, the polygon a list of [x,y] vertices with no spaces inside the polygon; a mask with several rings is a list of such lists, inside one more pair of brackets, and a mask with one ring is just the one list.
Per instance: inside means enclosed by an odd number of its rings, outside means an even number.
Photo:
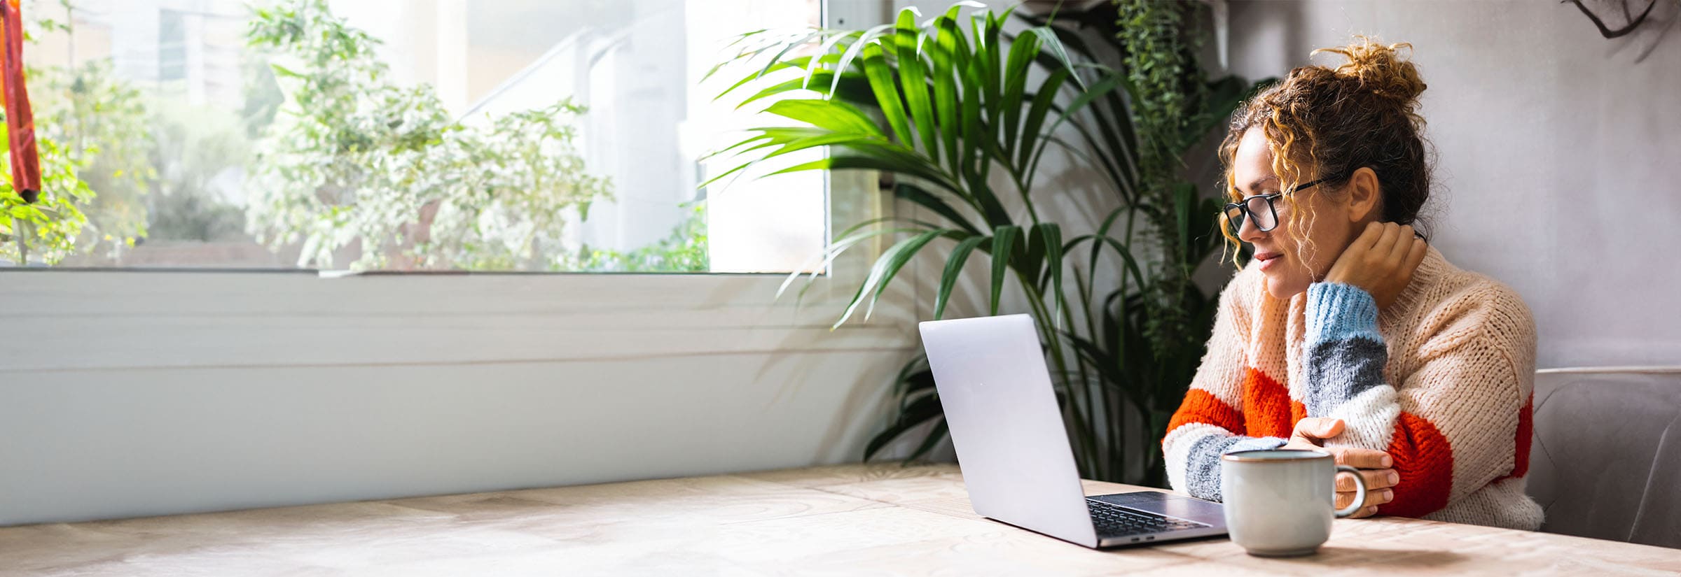
[{"label": "woman's curly brown hair tied up in a bun", "polygon": [[[1412,45],[1383,45],[1355,37],[1345,47],[1313,50],[1309,55],[1340,54],[1348,62],[1293,69],[1284,81],[1239,106],[1220,143],[1229,196],[1234,201],[1242,198],[1232,171],[1237,144],[1246,131],[1261,127],[1286,198],[1293,196],[1296,185],[1316,178],[1328,178],[1326,185],[1335,186],[1325,186],[1325,191],[1335,195],[1357,169],[1370,168],[1382,191],[1380,220],[1412,225],[1424,233],[1427,223],[1419,213],[1431,198],[1431,161],[1420,136],[1424,117],[1417,109],[1425,84],[1417,67],[1400,57],[1400,49],[1410,50]],[[1301,221],[1311,220],[1311,215],[1294,210],[1289,220],[1289,228],[1301,231],[1306,230]],[[1242,247],[1224,226],[1224,215],[1220,231],[1232,248]]]}]

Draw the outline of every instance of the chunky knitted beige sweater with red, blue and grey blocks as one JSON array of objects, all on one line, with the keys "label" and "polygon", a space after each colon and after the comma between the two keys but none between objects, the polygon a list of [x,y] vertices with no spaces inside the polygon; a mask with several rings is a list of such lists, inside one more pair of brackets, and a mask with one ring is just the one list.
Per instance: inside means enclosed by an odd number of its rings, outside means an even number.
[{"label": "chunky knitted beige sweater with red, blue and grey blocks", "polygon": [[1389,451],[1400,481],[1380,515],[1533,530],[1535,322],[1511,290],[1434,247],[1389,309],[1343,283],[1278,300],[1259,263],[1220,292],[1209,352],[1162,448],[1175,490],[1220,500],[1220,455],[1278,448],[1304,416],[1328,446]]}]

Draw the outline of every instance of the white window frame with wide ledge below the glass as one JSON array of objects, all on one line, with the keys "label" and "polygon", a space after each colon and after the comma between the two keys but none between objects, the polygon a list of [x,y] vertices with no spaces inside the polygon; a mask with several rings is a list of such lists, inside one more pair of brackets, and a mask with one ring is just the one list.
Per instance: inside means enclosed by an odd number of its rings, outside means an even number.
[{"label": "white window frame with wide ledge below the glass", "polygon": [[[824,22],[884,23],[891,8],[824,2]],[[894,213],[876,173],[825,181],[825,237]],[[778,295],[783,273],[0,268],[0,324],[27,342],[0,352],[0,372],[903,351],[914,270],[869,320],[832,327],[886,247],[854,247],[804,295],[805,277]]]}]

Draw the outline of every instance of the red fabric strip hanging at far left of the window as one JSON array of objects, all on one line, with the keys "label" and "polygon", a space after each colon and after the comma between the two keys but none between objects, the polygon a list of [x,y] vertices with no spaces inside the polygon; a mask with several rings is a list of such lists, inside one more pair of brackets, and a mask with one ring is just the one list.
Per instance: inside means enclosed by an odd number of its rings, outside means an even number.
[{"label": "red fabric strip hanging at far left of the window", "polygon": [[0,62],[0,92],[5,92],[5,124],[12,151],[12,190],[34,203],[40,196],[40,153],[35,149],[35,117],[29,112],[29,91],[24,87],[24,8],[18,0],[0,2],[0,42],[5,59]]}]

